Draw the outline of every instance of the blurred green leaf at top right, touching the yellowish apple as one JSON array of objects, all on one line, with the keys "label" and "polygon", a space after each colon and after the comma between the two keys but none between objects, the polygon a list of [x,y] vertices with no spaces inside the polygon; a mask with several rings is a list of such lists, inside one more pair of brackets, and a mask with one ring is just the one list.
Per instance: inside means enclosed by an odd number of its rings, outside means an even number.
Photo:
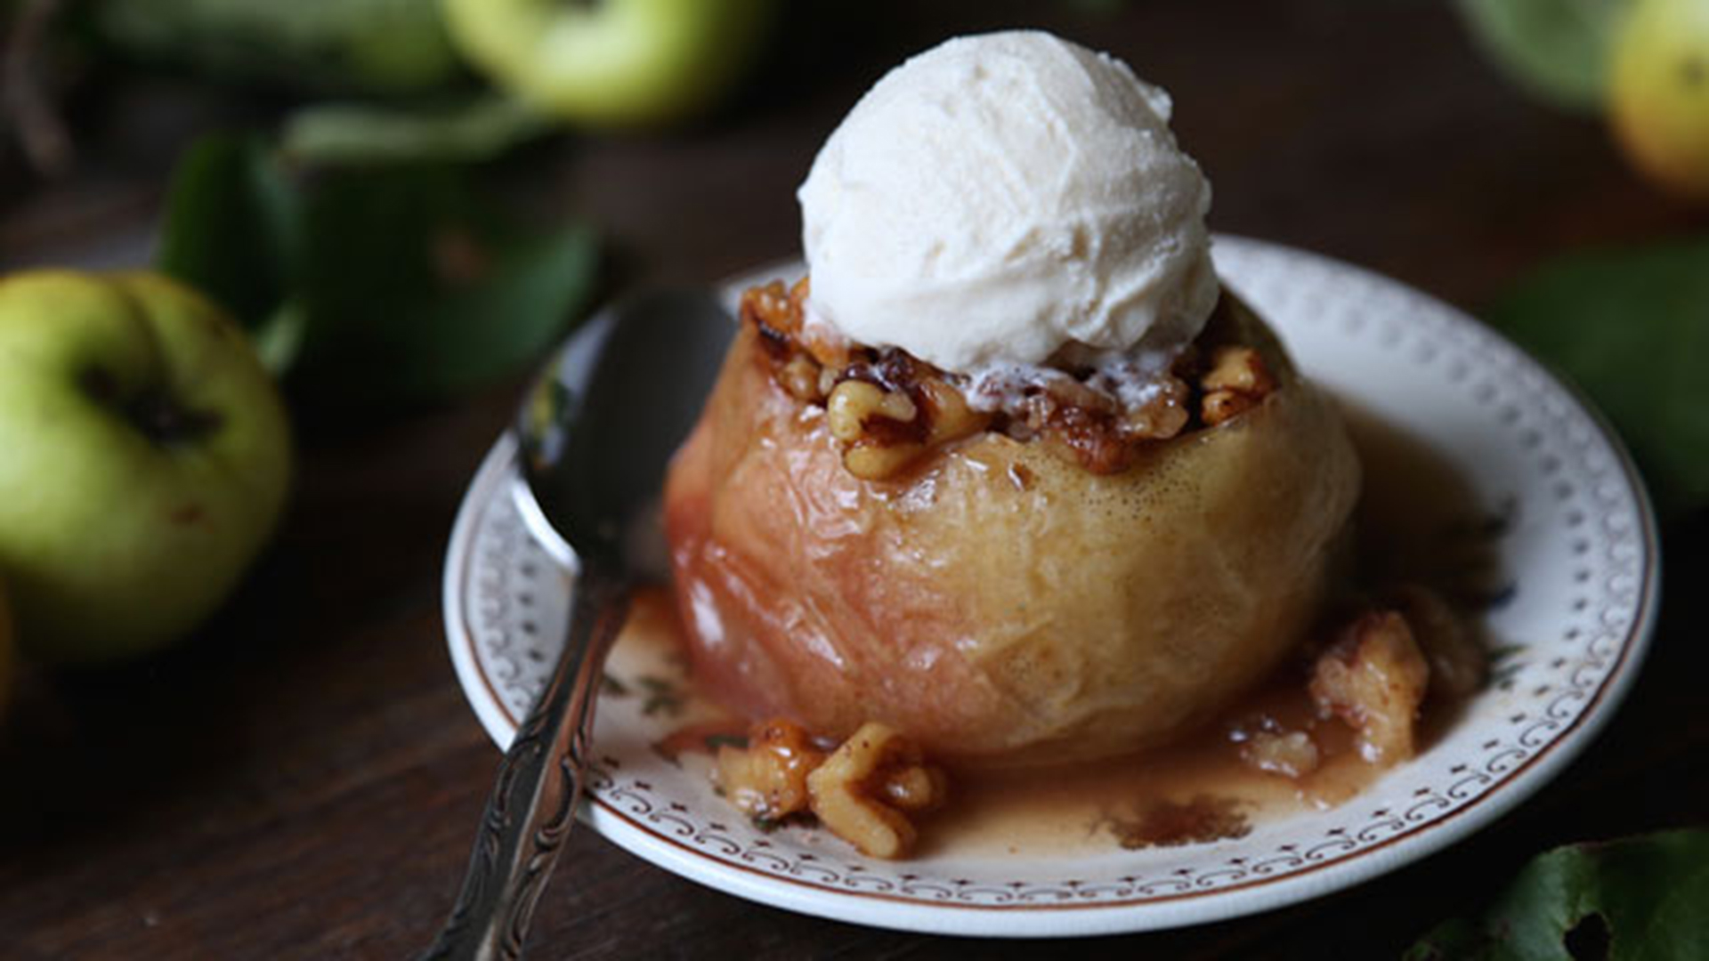
[{"label": "blurred green leaf at top right, touching the yellowish apple", "polygon": [[1608,50],[1630,0],[1458,0],[1471,34],[1519,85],[1564,109],[1594,113]]}]

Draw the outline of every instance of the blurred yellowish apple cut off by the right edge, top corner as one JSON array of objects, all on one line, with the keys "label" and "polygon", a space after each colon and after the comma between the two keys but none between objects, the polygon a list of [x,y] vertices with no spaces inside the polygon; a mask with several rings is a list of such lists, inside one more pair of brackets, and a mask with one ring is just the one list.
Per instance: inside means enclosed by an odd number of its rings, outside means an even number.
[{"label": "blurred yellowish apple cut off by the right edge, top corner", "polygon": [[1709,202],[1709,3],[1641,0],[1613,48],[1608,111],[1654,183]]}]

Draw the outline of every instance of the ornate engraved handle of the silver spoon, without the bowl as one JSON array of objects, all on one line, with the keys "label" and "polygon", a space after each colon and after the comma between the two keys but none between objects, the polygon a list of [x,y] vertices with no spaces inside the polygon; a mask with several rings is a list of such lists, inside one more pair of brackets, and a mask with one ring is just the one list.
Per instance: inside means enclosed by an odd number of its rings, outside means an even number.
[{"label": "ornate engraved handle of the silver spoon, without the bowl", "polygon": [[581,571],[564,653],[499,763],[463,891],[420,961],[523,956],[528,920],[576,819],[605,653],[627,612],[627,580]]}]

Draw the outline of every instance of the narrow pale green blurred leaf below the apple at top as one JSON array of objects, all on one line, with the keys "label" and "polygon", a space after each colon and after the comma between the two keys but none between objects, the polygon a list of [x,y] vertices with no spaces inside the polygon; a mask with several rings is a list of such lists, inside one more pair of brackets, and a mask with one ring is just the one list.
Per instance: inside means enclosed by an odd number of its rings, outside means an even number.
[{"label": "narrow pale green blurred leaf below the apple at top", "polygon": [[429,106],[313,104],[285,120],[285,156],[302,162],[485,161],[538,137],[549,121],[497,94]]}]

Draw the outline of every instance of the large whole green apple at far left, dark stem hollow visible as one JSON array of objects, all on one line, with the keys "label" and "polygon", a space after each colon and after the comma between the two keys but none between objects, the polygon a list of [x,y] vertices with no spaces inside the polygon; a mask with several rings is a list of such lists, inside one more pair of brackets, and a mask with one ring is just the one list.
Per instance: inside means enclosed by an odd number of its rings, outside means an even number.
[{"label": "large whole green apple at far left, dark stem hollow visible", "polygon": [[58,663],[157,650],[243,576],[285,503],[284,404],[243,332],[154,274],[0,280],[0,576]]}]

